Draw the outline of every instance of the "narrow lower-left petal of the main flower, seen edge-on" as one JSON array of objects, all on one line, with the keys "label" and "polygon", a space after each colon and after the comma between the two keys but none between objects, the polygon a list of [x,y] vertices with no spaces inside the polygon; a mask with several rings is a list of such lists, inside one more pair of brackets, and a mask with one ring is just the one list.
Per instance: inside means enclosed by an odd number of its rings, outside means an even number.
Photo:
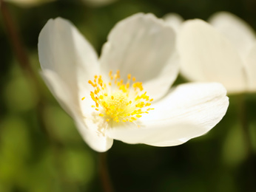
[{"label": "narrow lower-left petal of the main flower, seen edge-on", "polygon": [[[89,118],[83,117],[78,100],[69,92],[69,89],[67,89],[64,82],[58,78],[58,75],[49,69],[45,69],[41,72],[41,75],[50,91],[58,100],[58,103],[60,103],[62,108],[75,120],[75,124],[84,141],[95,151],[103,152],[111,148],[112,139],[98,134],[97,124],[93,123]],[[84,100],[84,102],[86,103],[87,101]],[[87,104],[87,109],[90,110],[90,104]]]}]

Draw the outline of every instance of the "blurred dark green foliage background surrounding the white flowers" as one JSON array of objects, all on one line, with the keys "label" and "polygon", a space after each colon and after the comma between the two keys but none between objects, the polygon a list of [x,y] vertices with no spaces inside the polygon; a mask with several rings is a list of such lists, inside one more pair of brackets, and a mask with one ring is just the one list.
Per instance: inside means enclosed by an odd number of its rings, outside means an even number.
[{"label": "blurred dark green foliage background surrounding the white flowers", "polygon": [[[0,192],[103,191],[99,154],[92,151],[42,82],[38,34],[49,18],[78,27],[100,54],[114,24],[134,13],[178,13],[207,19],[226,10],[256,29],[254,0],[119,0],[105,6],[53,1],[22,7],[6,3],[27,52],[36,81],[21,69],[0,17]],[[176,83],[182,83],[180,77]],[[240,123],[245,100],[252,150]],[[223,120],[203,137],[167,148],[115,141],[107,163],[115,191],[256,191],[256,94],[230,96]]]}]

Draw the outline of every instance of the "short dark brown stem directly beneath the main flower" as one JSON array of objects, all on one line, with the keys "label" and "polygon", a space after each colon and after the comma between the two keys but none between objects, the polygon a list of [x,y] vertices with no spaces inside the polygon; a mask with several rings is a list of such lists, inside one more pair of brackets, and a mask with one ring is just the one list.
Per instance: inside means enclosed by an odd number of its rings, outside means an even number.
[{"label": "short dark brown stem directly beneath the main flower", "polygon": [[99,154],[99,175],[104,192],[113,192],[110,174],[107,168],[107,152]]}]

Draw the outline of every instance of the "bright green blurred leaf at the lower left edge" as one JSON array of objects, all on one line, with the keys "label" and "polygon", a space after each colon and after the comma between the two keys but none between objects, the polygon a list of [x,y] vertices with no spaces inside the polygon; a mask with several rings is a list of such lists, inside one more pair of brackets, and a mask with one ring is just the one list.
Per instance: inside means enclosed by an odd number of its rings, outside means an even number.
[{"label": "bright green blurred leaf at the lower left edge", "polygon": [[24,177],[30,140],[27,125],[19,117],[7,117],[0,127],[0,181],[8,184]]}]

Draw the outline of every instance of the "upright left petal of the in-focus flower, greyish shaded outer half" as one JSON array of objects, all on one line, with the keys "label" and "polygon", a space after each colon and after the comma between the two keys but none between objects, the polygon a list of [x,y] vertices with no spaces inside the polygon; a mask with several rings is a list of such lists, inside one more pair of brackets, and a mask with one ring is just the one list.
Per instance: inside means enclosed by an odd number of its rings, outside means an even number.
[{"label": "upright left petal of the in-focus flower, greyish shaded outer half", "polygon": [[69,21],[50,19],[38,38],[38,55],[41,68],[50,69],[67,86],[68,92],[81,100],[87,83],[98,74],[98,61],[94,49]]}]

